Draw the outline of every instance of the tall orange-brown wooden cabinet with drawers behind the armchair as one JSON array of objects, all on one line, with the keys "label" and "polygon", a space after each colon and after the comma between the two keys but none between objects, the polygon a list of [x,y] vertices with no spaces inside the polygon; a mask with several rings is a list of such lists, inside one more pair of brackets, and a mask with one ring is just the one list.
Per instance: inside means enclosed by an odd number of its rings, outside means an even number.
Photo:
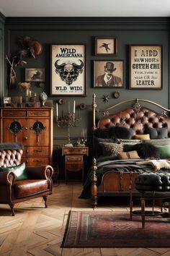
[{"label": "tall orange-brown wooden cabinet with drawers behind the armchair", "polygon": [[52,165],[53,108],[1,108],[1,142],[24,145],[27,166]]}]

